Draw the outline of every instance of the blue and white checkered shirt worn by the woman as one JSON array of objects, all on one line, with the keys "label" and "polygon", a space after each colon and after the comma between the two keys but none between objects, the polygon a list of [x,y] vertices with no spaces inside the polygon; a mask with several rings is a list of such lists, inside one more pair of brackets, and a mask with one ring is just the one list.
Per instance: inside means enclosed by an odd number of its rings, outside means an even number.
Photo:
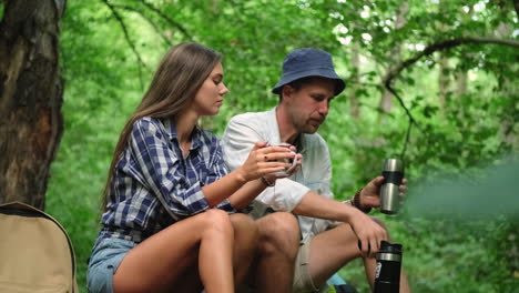
[{"label": "blue and white checkered shirt worn by the woman", "polygon": [[[173,120],[139,119],[115,164],[100,238],[139,243],[173,223],[156,198],[159,193],[179,218],[211,209],[202,186],[226,173],[214,133],[195,128],[190,153],[184,158]],[[236,211],[228,200],[217,208]]]}]

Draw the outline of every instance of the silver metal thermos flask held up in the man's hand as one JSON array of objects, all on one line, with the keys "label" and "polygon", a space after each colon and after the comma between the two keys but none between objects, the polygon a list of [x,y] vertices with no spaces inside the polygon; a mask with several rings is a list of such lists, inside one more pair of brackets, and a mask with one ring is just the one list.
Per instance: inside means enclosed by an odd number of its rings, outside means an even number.
[{"label": "silver metal thermos flask held up in the man's hand", "polygon": [[380,188],[380,212],[395,214],[400,208],[398,186],[404,179],[404,163],[399,159],[386,159],[383,166],[384,182]]}]

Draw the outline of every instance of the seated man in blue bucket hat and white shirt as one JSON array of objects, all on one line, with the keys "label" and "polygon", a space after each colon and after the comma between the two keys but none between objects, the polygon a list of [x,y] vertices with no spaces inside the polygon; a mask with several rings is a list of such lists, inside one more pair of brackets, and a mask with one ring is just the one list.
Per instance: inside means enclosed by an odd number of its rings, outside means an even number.
[{"label": "seated man in blue bucket hat and white shirt", "polygon": [[[254,272],[258,292],[316,292],[356,257],[363,257],[373,287],[374,256],[388,234],[365,212],[379,205],[384,178],[370,181],[352,201],[333,200],[329,152],[316,133],[328,114],[329,102],[344,88],[329,53],[309,48],[294,50],[285,58],[282,78],[272,90],[279,95],[277,107],[236,115],[225,130],[224,159],[231,170],[245,161],[257,141],[286,142],[303,154],[298,172],[275,184],[266,182],[268,188],[256,198],[251,212],[261,218]],[[400,186],[401,192],[405,189]],[[400,283],[401,292],[408,292],[405,277]]]}]

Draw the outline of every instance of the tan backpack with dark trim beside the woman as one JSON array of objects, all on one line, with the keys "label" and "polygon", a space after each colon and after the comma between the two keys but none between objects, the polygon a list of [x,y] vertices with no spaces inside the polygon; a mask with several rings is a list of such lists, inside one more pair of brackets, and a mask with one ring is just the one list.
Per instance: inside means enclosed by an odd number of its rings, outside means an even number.
[{"label": "tan backpack with dark trim beside the woman", "polygon": [[0,293],[78,293],[75,256],[63,226],[21,203],[0,204]]}]

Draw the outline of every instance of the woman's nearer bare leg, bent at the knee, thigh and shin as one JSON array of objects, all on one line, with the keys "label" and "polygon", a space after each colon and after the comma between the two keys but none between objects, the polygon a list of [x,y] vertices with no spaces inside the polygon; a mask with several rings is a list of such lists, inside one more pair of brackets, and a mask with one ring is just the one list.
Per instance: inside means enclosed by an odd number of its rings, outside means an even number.
[{"label": "woman's nearer bare leg, bent at the knee, thigh and shin", "polygon": [[197,266],[207,293],[234,292],[233,234],[227,213],[216,209],[174,223],[126,254],[113,276],[114,292],[196,292],[200,282],[186,284],[183,276]]}]

